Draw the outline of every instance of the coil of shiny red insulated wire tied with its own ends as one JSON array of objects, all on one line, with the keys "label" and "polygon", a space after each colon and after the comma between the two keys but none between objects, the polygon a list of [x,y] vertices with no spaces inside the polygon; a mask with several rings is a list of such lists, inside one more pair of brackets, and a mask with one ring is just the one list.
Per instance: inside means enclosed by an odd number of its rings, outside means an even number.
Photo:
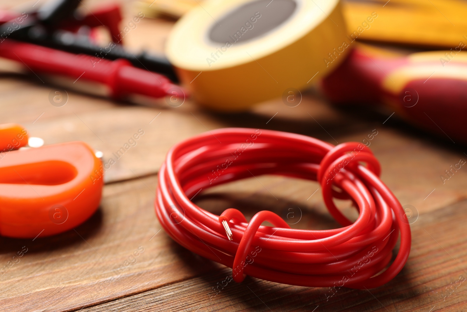
[{"label": "coil of shiny red insulated wire tied with its own ends", "polygon": [[[190,201],[200,189],[261,174],[318,181],[329,212],[342,227],[291,229],[271,211],[260,211],[247,222],[239,210],[227,209],[219,217]],[[378,160],[361,143],[333,146],[287,132],[219,129],[170,149],[159,173],[155,208],[175,241],[233,268],[237,282],[246,274],[299,286],[373,288],[400,272],[411,244],[403,208],[379,174]],[[336,208],[333,197],[353,201],[359,211],[355,222]],[[275,227],[261,225],[264,221]],[[400,248],[389,265],[399,232]]]}]

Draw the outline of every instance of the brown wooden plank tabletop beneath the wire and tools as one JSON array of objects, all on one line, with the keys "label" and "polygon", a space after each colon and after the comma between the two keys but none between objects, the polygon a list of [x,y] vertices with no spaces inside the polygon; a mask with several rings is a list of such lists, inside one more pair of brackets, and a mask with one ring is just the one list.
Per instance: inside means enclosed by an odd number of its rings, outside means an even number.
[{"label": "brown wooden plank tabletop beneath the wire and tools", "polygon": [[[8,2],[2,1],[2,7]],[[134,10],[126,11],[129,21]],[[126,44],[161,51],[171,25],[144,18],[125,37]],[[396,115],[388,118],[392,111],[334,107],[312,90],[295,108],[276,100],[233,115],[205,111],[189,101],[179,108],[164,101],[151,102],[152,107],[113,102],[71,88],[66,89],[66,105],[55,107],[49,94],[61,87],[42,76],[44,82],[32,73],[11,72],[7,64],[1,68],[0,123],[21,123],[46,144],[82,140],[104,152],[106,161],[136,131],[144,131],[137,145],[106,172],[100,208],[84,224],[53,237],[0,238],[0,268],[7,266],[0,273],[1,311],[467,310],[467,282],[448,291],[467,277],[467,168],[445,183],[440,177],[467,159],[465,145],[418,131]],[[153,202],[157,171],[171,145],[230,126],[296,132],[332,144],[362,141],[375,129],[378,134],[370,148],[381,162],[382,181],[412,211],[412,250],[402,272],[380,288],[340,289],[328,300],[327,289],[251,277],[214,292],[230,269],[170,239],[161,230]],[[316,182],[275,176],[259,181],[216,187],[196,203],[217,214],[235,207],[247,218],[272,210],[299,220],[293,226],[303,229],[339,226],[327,213],[320,192],[314,193]],[[340,207],[355,218],[349,203],[340,202]],[[26,252],[20,261],[10,266],[21,250]],[[131,257],[134,251],[138,257]]]}]

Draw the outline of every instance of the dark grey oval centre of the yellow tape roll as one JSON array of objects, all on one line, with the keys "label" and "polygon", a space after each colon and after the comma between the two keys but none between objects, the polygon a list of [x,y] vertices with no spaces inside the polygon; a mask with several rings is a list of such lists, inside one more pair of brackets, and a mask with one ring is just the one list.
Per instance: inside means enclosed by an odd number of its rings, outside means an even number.
[{"label": "dark grey oval centre of the yellow tape roll", "polygon": [[246,42],[275,29],[295,12],[295,0],[256,0],[214,22],[209,39],[215,43]]}]

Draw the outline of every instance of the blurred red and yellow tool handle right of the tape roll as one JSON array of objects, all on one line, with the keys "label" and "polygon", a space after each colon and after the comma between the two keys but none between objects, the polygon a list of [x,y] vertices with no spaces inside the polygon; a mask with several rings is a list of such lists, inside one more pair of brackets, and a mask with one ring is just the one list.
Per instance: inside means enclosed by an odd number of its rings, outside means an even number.
[{"label": "blurred red and yellow tool handle right of the tape roll", "polygon": [[467,142],[467,52],[461,47],[391,55],[359,46],[322,89],[333,102],[383,103],[448,141]]}]

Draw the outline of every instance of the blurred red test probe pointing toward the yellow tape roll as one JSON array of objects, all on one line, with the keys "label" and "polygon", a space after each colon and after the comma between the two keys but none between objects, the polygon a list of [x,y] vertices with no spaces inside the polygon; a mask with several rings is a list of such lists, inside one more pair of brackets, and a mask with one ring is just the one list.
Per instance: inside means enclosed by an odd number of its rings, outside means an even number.
[{"label": "blurred red test probe pointing toward the yellow tape roll", "polygon": [[35,44],[7,39],[0,44],[0,57],[18,61],[34,73],[99,82],[109,87],[113,98],[142,94],[154,98],[167,95],[184,98],[184,91],[165,76],[136,68],[126,59],[114,61],[73,54]]}]

